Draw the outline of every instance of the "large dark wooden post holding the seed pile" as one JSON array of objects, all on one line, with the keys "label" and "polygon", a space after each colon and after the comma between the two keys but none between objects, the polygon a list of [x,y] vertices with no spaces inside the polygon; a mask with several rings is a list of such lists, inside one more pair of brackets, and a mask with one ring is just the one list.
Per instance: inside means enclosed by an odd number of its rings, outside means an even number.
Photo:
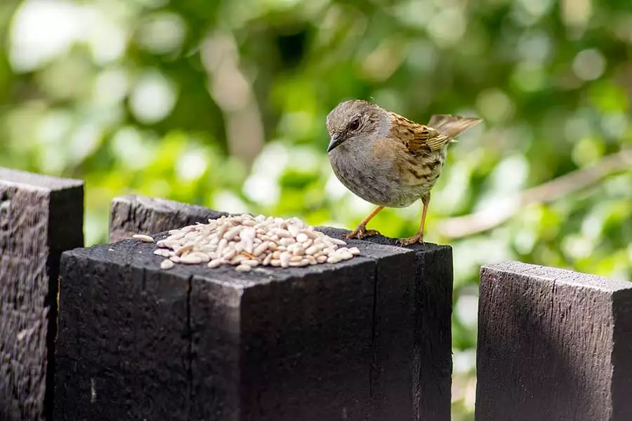
[{"label": "large dark wooden post holding the seed pile", "polygon": [[449,420],[451,249],[351,242],[338,265],[247,274],[161,271],[133,240],[66,253],[56,419]]}]

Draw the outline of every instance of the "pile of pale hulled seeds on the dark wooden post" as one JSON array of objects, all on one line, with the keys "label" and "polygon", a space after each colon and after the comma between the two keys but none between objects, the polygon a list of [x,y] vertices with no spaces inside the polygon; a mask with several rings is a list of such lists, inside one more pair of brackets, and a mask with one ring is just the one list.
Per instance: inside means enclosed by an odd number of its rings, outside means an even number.
[{"label": "pile of pale hulled seeds on the dark wooden post", "polygon": [[[150,236],[134,238],[153,242]],[[162,269],[176,263],[207,263],[211,268],[233,265],[238,272],[249,272],[259,265],[303,267],[337,263],[360,254],[357,247],[338,247],[345,245],[298,218],[233,215],[172,229],[169,237],[157,242],[154,254],[166,258]]]}]

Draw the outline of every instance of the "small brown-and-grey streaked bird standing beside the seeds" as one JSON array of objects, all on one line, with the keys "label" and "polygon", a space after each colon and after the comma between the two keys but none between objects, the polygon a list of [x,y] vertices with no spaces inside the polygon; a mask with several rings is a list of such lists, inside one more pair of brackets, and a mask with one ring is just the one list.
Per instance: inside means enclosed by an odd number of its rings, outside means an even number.
[{"label": "small brown-and-grey streaked bird standing beside the seeds", "polygon": [[424,126],[371,102],[338,104],[327,116],[331,167],[351,192],[377,205],[347,238],[379,234],[367,230],[367,223],[380,210],[404,208],[421,199],[419,232],[399,241],[404,246],[423,243],[430,189],[441,174],[447,145],[481,121],[437,114]]}]

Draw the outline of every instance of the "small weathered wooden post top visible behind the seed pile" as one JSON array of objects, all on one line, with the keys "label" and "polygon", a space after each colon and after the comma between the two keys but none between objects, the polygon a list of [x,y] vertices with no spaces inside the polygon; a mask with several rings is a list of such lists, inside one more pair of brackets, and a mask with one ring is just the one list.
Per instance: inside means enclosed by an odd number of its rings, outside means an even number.
[{"label": "small weathered wooden post top visible behind the seed pile", "polygon": [[134,194],[115,197],[110,209],[110,242],[129,239],[133,234],[155,234],[195,222],[206,223],[221,215],[226,213],[166,199]]}]

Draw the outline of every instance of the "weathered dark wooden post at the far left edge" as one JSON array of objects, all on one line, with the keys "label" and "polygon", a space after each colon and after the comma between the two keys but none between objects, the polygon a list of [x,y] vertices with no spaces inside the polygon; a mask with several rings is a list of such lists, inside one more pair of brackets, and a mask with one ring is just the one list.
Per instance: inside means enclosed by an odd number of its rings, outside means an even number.
[{"label": "weathered dark wooden post at the far left edge", "polygon": [[0,420],[52,420],[60,255],[84,244],[83,185],[0,168]]}]

